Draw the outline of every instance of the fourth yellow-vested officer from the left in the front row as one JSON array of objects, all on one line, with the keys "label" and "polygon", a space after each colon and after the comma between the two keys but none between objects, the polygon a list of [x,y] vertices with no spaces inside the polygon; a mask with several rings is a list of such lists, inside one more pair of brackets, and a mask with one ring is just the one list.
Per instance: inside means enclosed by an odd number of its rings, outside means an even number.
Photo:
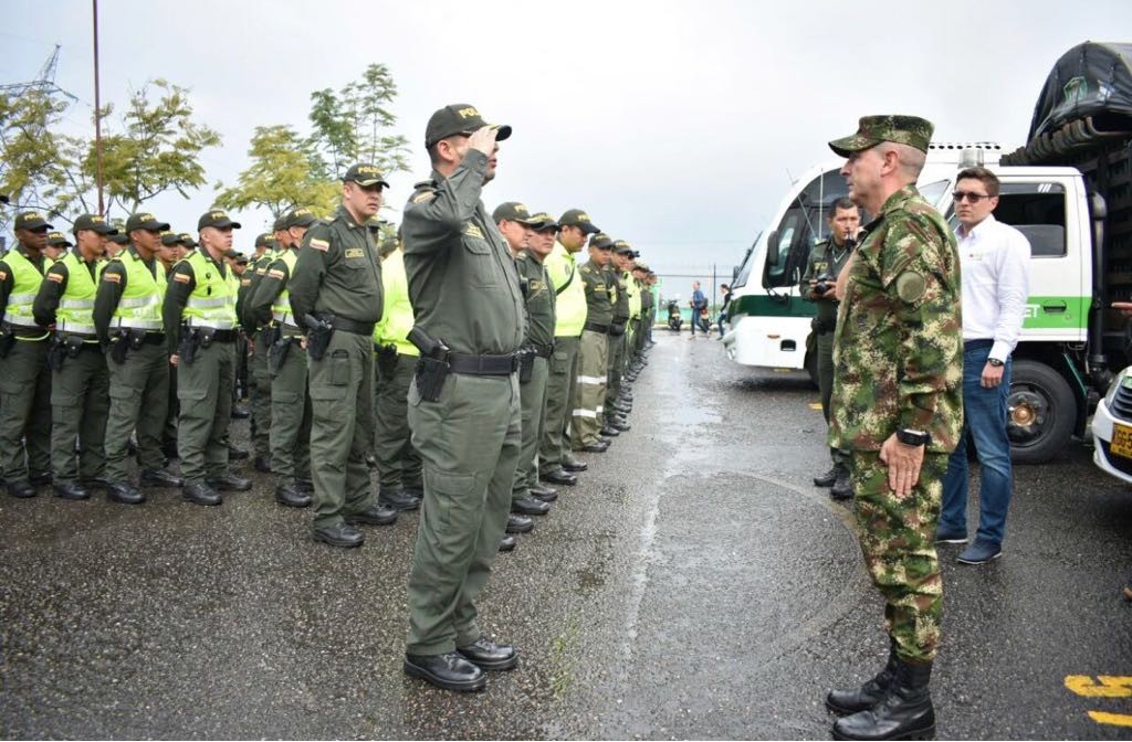
[{"label": "fourth yellow-vested officer from the left in the front row", "polygon": [[251,489],[250,481],[229,471],[228,459],[238,284],[224,254],[232,249],[232,231],[239,228],[222,209],[200,215],[200,247],[173,267],[162,305],[165,350],[177,368],[181,497],[195,504],[220,504],[221,492]]}]

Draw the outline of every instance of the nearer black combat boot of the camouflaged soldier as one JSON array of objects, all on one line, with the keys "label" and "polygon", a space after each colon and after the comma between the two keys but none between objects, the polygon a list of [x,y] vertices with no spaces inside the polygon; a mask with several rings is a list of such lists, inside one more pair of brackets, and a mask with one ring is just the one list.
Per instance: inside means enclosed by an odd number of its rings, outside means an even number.
[{"label": "nearer black combat boot of the camouflaged soldier", "polygon": [[932,663],[897,658],[889,694],[873,708],[843,716],[833,725],[834,740],[911,740],[935,734],[935,709],[928,682]]}]

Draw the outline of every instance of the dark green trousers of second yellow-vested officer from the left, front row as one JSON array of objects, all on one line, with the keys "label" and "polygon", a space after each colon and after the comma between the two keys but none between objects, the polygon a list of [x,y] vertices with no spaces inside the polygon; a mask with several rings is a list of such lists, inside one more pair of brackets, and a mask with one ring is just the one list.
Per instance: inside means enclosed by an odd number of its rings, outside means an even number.
[{"label": "dark green trousers of second yellow-vested officer from the left, front row", "polygon": [[51,372],[51,473],[55,484],[105,475],[109,414],[106,356],[97,343],[89,343],[76,357],[63,359],[63,368]]}]

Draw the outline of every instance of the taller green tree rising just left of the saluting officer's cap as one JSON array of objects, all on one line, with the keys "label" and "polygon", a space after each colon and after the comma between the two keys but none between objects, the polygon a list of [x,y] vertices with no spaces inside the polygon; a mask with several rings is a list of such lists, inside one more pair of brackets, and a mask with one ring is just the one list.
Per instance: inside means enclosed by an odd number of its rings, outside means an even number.
[{"label": "taller green tree rising just left of the saluting officer's cap", "polygon": [[391,109],[396,97],[393,75],[377,63],[337,93],[311,93],[311,145],[325,176],[340,178],[359,162],[377,165],[386,175],[409,170],[409,140],[389,131],[397,122]]}]

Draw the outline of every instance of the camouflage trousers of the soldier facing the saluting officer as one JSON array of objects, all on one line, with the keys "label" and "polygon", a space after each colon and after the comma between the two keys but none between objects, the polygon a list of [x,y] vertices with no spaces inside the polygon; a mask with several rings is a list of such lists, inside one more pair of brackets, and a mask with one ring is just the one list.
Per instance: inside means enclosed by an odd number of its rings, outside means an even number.
[{"label": "camouflage trousers of the soldier facing the saluting officer", "polygon": [[943,501],[947,454],[927,452],[919,482],[898,498],[880,451],[852,451],[857,536],[873,585],[884,595],[884,622],[897,654],[928,662],[940,645],[943,583],[935,527]]}]

